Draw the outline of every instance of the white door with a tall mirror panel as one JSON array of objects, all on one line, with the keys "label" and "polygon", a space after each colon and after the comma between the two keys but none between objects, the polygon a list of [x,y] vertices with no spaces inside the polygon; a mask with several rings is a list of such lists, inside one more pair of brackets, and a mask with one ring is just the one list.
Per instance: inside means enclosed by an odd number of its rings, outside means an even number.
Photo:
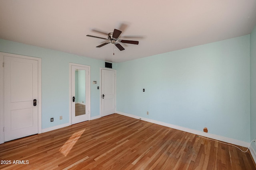
[{"label": "white door with a tall mirror panel", "polygon": [[77,65],[71,65],[72,124],[87,121],[90,115],[90,67]]}]

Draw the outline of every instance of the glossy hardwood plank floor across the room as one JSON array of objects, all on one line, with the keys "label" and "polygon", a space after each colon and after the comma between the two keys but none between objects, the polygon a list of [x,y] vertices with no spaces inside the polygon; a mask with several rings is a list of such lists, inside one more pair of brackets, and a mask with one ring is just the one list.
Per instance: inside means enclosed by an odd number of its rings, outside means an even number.
[{"label": "glossy hardwood plank floor across the room", "polygon": [[6,142],[0,160],[7,170],[256,169],[249,151],[118,114]]}]

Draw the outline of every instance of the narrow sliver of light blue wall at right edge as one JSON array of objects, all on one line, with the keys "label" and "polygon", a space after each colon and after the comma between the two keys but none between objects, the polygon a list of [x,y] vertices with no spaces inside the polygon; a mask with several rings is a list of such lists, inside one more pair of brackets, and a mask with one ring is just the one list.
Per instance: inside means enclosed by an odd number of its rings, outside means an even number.
[{"label": "narrow sliver of light blue wall at right edge", "polygon": [[[251,140],[256,138],[256,25],[250,36]],[[256,145],[252,145],[256,152]]]}]

